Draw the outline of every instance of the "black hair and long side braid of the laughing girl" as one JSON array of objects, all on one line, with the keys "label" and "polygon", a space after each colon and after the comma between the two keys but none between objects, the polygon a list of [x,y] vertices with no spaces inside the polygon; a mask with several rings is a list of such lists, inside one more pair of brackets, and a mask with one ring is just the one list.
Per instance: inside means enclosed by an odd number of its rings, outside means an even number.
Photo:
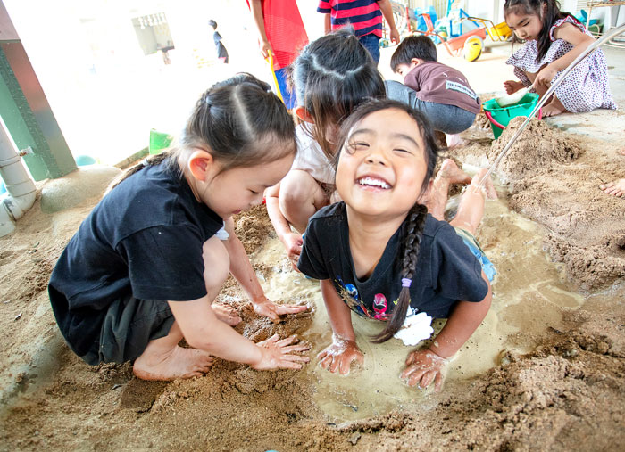
[{"label": "black hair and long side braid of the laughing girl", "polygon": [[[366,103],[362,103],[352,115],[346,119],[341,127],[339,146],[337,149],[341,149],[346,145],[349,139],[350,131],[358,124],[362,119],[369,116],[371,113],[382,110],[399,110],[404,111],[410,116],[421,134],[421,140],[423,142],[423,157],[426,161],[428,168],[426,169],[425,176],[423,177],[423,183],[421,184],[421,194],[425,193],[429,186],[429,179],[434,174],[434,168],[437,164],[438,157],[438,145],[437,139],[434,135],[434,128],[429,124],[429,120],[421,113],[412,109],[405,103],[393,101],[390,99],[376,100],[371,99]],[[337,152],[338,161],[339,152]],[[425,220],[428,215],[428,209],[420,204],[418,201],[408,211],[406,221],[401,232],[401,238],[399,241],[399,250],[396,254],[395,268],[399,276],[397,277],[397,284],[402,284],[402,279],[409,279],[412,281],[414,276],[414,270],[417,267],[417,259],[419,257],[419,248],[421,246],[421,237],[423,234],[423,227],[425,226]],[[399,292],[399,299],[397,305],[393,309],[391,318],[388,320],[386,327],[376,336],[373,336],[372,342],[380,343],[388,341],[393,337],[395,333],[404,325],[404,320],[408,307],[410,306],[410,288],[402,287],[402,291]]]}]

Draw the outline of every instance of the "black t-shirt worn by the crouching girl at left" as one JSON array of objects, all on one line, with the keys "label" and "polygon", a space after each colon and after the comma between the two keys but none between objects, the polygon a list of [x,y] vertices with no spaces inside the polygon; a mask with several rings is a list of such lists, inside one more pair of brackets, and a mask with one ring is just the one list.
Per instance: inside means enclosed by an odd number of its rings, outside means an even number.
[{"label": "black t-shirt worn by the crouching girl at left", "polygon": [[113,188],[79,226],[50,278],[54,316],[71,348],[87,352],[106,309],[121,297],[204,297],[202,247],[222,226],[165,163]]}]

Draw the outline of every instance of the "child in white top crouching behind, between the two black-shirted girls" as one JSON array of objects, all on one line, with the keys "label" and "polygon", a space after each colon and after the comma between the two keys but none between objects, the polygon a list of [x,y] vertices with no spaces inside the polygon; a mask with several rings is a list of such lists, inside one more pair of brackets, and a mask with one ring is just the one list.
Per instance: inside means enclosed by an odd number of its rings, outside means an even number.
[{"label": "child in white top crouching behind, between the two black-shirted girls", "polygon": [[308,218],[334,193],[338,128],[357,105],[384,97],[385,90],[371,55],[348,28],[306,45],[290,78],[297,99],[293,111],[302,121],[296,127],[299,149],[287,176],[265,194],[271,223],[295,266]]}]

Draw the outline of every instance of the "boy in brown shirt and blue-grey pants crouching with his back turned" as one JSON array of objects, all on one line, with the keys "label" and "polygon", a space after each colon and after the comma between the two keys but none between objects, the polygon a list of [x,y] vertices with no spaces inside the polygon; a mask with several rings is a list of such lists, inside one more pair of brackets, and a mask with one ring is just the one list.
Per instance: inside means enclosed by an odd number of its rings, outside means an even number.
[{"label": "boy in brown shirt and blue-grey pants crouching with his back turned", "polygon": [[389,80],[387,95],[421,111],[435,130],[459,134],[478,115],[479,97],[462,72],[437,61],[429,37],[406,37],[391,57],[391,69],[404,77],[405,86]]}]

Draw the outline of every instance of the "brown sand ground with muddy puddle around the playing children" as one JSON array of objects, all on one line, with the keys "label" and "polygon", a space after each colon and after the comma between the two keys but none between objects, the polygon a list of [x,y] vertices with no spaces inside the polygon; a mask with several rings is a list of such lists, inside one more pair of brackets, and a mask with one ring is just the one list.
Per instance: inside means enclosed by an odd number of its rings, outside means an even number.
[{"label": "brown sand ground with muddy puddle around the playing children", "polygon": [[[492,145],[474,127],[453,154],[483,165],[513,127]],[[218,359],[175,382],[87,366],[65,346],[46,284],[97,199],[56,214],[37,201],[0,239],[0,450],[622,450],[625,200],[596,188],[625,177],[621,145],[532,123],[512,148],[478,234],[499,272],[493,307],[439,394],[405,387],[408,348],[368,343],[379,325],[362,319],[365,366],[349,377],[314,358],[300,372]],[[272,324],[229,281],[219,298],[241,312],[237,331],[297,333],[314,357],[330,337],[318,284],[289,268],[262,206],[237,218],[237,234],[272,300],[312,306]]]}]

